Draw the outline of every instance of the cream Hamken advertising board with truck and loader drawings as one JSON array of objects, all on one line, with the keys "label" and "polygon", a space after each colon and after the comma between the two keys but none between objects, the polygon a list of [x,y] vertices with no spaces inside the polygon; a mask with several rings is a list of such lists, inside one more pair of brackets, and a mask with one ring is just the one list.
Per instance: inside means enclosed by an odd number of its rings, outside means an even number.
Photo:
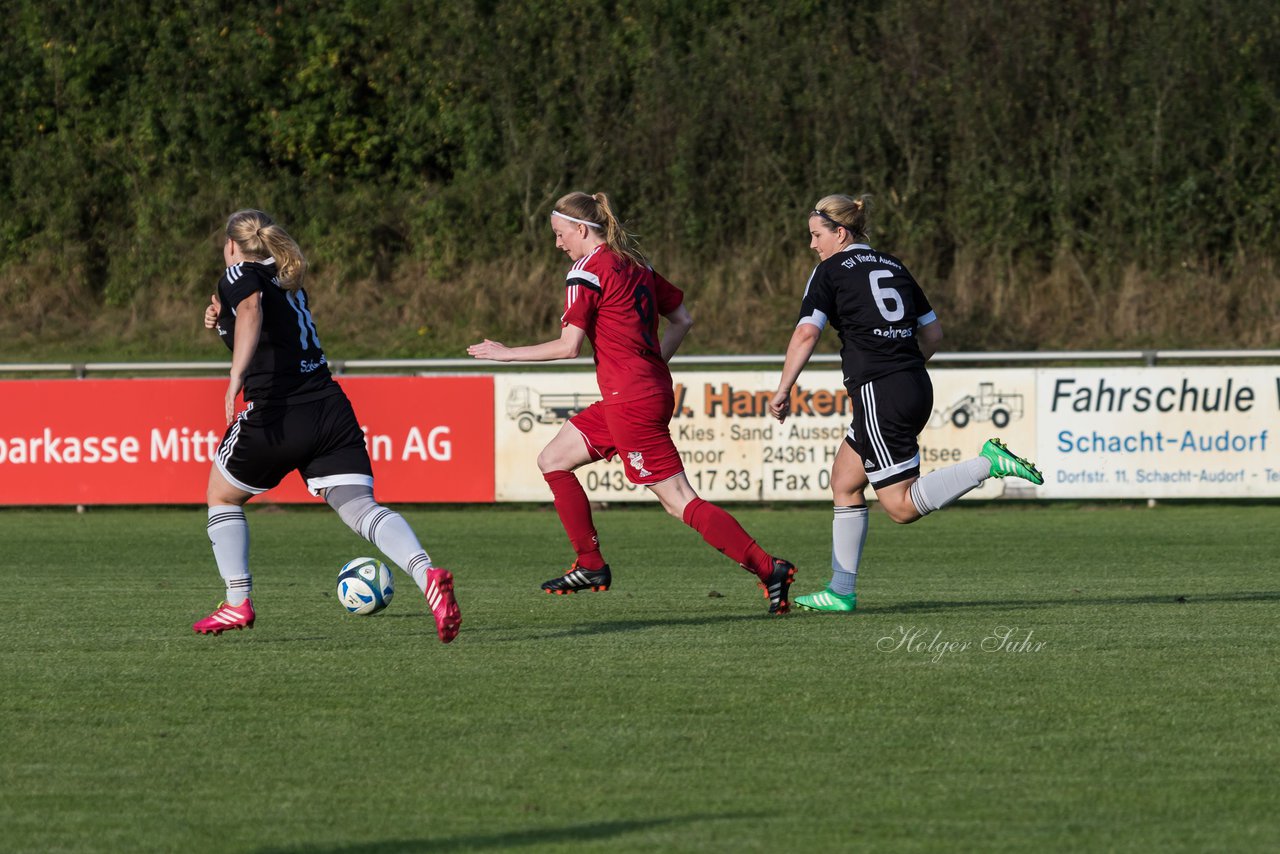
[{"label": "cream Hamken advertising board with truck and loader drawings", "polygon": [[[922,470],[975,456],[1000,435],[1024,456],[1036,431],[1036,371],[933,371],[934,411],[920,435]],[[851,419],[838,371],[806,371],[792,393],[792,416],[778,424],[767,405],[777,371],[681,371],[675,375],[671,434],[690,483],[708,501],[826,501],[831,462]],[[599,399],[595,376],[506,374],[494,378],[497,501],[545,501],[538,452],[573,412]],[[1025,448],[1025,449],[1024,449]],[[620,460],[579,470],[593,501],[639,501]],[[973,498],[1034,495],[1023,481],[989,480]]]}]

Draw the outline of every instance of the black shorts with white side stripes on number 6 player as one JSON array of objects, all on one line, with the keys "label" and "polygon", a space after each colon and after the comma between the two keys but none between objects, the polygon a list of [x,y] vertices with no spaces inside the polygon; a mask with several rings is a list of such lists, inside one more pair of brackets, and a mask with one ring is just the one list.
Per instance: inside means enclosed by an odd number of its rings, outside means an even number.
[{"label": "black shorts with white side stripes on number 6 player", "polygon": [[849,389],[854,421],[845,442],[863,458],[873,487],[920,474],[920,430],[933,414],[928,371],[897,371]]}]

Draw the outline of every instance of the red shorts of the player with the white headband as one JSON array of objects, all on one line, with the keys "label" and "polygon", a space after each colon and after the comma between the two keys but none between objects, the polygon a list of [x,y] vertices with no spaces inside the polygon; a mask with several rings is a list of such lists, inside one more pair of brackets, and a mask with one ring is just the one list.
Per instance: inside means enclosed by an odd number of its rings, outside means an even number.
[{"label": "red shorts of the player with the white headband", "polygon": [[671,440],[673,392],[605,406],[596,401],[568,420],[586,439],[594,460],[622,457],[627,480],[648,487],[685,470]]}]

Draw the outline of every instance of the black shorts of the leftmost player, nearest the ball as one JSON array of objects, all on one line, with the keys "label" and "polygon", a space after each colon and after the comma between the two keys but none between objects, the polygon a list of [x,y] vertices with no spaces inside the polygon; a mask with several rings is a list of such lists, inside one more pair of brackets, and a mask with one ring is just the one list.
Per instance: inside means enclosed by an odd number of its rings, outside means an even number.
[{"label": "black shorts of the leftmost player, nearest the ball", "polygon": [[294,469],[312,495],[343,484],[374,485],[365,434],[342,392],[306,403],[250,403],[223,434],[214,465],[255,495]]}]

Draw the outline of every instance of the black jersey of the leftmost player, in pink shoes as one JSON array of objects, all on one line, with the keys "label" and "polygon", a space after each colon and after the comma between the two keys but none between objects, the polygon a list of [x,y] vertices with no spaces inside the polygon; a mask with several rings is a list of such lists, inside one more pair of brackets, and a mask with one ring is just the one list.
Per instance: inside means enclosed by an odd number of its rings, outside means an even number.
[{"label": "black jersey of the leftmost player, in pink shoes", "polygon": [[320,348],[307,292],[285,291],[275,278],[275,259],[242,261],[218,280],[218,334],[234,352],[236,307],[262,293],[262,334],[244,374],[244,399],[255,403],[301,403],[339,389]]}]

